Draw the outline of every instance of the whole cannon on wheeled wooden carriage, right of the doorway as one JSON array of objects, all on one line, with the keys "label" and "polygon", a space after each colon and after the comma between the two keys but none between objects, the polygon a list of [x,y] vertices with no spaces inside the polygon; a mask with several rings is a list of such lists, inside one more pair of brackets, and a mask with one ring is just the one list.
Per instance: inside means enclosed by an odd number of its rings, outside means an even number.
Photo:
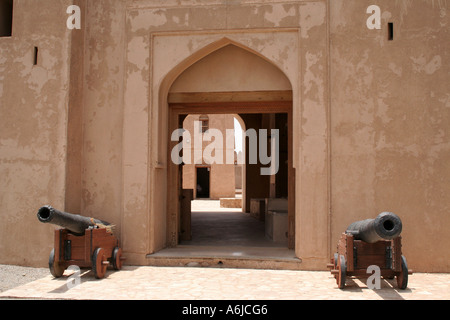
[{"label": "whole cannon on wheeled wooden carriage, right of the doorway", "polygon": [[375,219],[357,221],[341,235],[337,252],[327,265],[339,289],[347,278],[366,278],[370,266],[380,268],[385,279],[397,279],[404,290],[408,285],[406,258],[402,255],[402,221],[392,212],[383,212]]}]

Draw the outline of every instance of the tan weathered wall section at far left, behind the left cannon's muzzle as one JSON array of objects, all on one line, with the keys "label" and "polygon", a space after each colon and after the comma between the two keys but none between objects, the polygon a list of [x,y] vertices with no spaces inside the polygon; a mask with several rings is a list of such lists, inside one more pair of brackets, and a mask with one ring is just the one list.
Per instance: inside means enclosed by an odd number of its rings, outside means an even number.
[{"label": "tan weathered wall section at far left, behind the left cannon's muzzle", "polygon": [[44,265],[53,227],[37,210],[64,208],[68,5],[15,1],[12,37],[0,38],[0,263]]}]

